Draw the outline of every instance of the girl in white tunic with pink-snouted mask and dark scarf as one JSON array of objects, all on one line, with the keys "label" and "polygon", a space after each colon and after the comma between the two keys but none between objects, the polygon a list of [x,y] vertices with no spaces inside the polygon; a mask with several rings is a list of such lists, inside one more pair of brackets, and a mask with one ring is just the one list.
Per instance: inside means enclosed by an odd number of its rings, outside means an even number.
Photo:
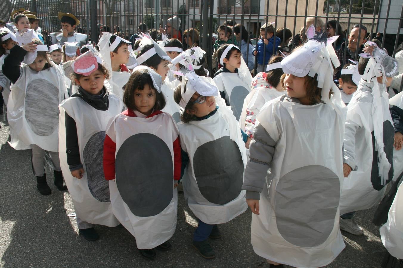
[{"label": "girl in white tunic with pink-snouted mask and dark scarf", "polygon": [[102,160],[106,125],[122,111],[123,101],[104,87],[109,74],[101,63],[91,51],[79,56],[72,64],[78,92],[59,105],[60,164],[79,233],[89,241],[98,239],[94,224],[119,224],[112,213]]}]

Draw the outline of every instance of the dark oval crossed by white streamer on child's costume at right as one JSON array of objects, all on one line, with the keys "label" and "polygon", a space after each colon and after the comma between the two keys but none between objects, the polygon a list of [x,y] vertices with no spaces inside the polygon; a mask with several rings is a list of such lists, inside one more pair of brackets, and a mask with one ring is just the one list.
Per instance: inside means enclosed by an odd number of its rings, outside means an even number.
[{"label": "dark oval crossed by white streamer on child's costume at right", "polygon": [[386,183],[382,183],[382,179],[379,176],[379,165],[378,165],[378,151],[375,150],[375,136],[372,131],[372,169],[371,169],[371,183],[375,190],[381,190],[385,187],[389,181],[393,178],[393,144],[395,142],[395,128],[393,128],[391,122],[383,122],[383,150],[386,154],[388,162],[391,164],[389,169],[388,177],[386,178]]}]

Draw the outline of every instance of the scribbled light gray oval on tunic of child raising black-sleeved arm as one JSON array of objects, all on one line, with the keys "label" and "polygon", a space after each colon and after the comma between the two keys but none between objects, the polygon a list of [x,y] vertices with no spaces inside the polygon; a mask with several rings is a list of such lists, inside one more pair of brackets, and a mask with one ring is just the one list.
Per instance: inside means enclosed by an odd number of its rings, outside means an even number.
[{"label": "scribbled light gray oval on tunic of child raising black-sleeved arm", "polygon": [[25,119],[38,136],[49,136],[59,124],[59,90],[45,79],[29,81],[25,92]]}]

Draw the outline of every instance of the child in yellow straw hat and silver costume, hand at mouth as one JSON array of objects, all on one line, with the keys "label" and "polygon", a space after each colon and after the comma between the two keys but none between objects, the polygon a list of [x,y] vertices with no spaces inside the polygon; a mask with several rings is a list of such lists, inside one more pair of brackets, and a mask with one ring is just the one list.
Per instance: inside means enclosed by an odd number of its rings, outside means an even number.
[{"label": "child in yellow straw hat and silver costume, hand at mouth", "polygon": [[62,24],[61,32],[50,33],[52,37],[52,44],[59,43],[64,45],[65,42],[74,43],[78,42],[77,46],[81,47],[87,44],[88,36],[83,33],[76,33],[75,28],[80,24],[80,21],[70,13],[58,13],[58,18]]}]

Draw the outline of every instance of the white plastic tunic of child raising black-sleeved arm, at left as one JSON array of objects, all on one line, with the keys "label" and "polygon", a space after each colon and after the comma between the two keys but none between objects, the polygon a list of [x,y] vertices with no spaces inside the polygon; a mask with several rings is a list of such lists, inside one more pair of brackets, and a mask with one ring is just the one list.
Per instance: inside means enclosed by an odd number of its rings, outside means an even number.
[{"label": "white plastic tunic of child raising black-sleeved arm, at left", "polygon": [[67,91],[62,70],[53,62],[51,65],[35,72],[21,64],[21,75],[12,86],[7,104],[9,143],[16,150],[36,144],[47,151],[58,151],[58,105]]}]

